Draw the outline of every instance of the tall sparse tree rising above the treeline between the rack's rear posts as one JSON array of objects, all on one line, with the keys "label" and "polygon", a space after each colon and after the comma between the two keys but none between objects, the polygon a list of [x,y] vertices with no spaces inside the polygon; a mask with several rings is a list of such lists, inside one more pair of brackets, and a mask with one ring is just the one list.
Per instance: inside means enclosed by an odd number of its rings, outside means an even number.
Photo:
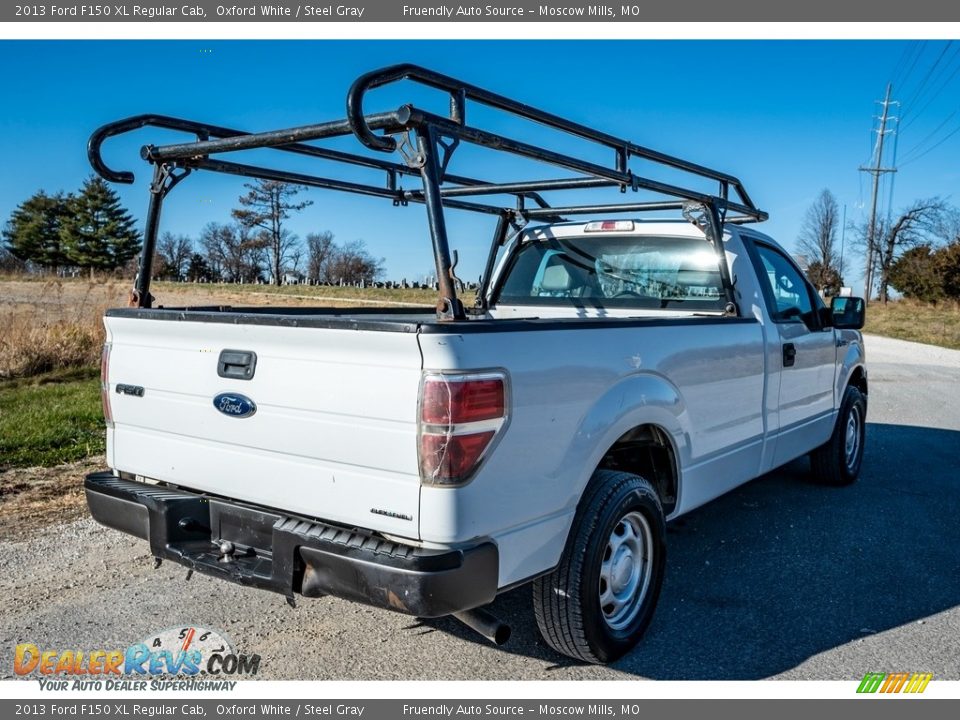
[{"label": "tall sparse tree rising above the treeline between the rack's rear posts", "polygon": [[264,233],[270,253],[270,274],[273,283],[283,282],[283,270],[290,260],[291,252],[298,244],[297,236],[283,227],[283,221],[291,212],[299,212],[313,204],[311,200],[293,200],[303,185],[258,179],[244,185],[249,192],[240,197],[243,208],[233,211],[233,217],[248,229],[257,228]]}]

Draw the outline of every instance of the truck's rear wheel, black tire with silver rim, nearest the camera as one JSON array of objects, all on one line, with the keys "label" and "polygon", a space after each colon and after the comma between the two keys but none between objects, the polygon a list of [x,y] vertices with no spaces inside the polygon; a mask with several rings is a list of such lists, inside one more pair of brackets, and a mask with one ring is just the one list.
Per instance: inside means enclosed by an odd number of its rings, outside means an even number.
[{"label": "truck's rear wheel, black tire with silver rim, nearest the camera", "polygon": [[621,657],[653,618],[665,564],[666,523],[656,490],[638,475],[598,470],[560,564],[533,583],[543,639],[577,660]]}]

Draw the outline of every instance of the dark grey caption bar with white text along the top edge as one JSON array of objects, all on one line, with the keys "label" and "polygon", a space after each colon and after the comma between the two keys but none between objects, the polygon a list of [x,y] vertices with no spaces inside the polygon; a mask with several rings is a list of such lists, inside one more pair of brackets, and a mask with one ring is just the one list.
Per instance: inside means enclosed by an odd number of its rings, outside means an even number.
[{"label": "dark grey caption bar with white text along the top edge", "polygon": [[352,3],[221,4],[36,2],[0,6],[5,22],[952,22],[960,2],[943,0],[686,0],[683,3],[576,0],[499,0],[492,4],[405,3],[354,0]]}]

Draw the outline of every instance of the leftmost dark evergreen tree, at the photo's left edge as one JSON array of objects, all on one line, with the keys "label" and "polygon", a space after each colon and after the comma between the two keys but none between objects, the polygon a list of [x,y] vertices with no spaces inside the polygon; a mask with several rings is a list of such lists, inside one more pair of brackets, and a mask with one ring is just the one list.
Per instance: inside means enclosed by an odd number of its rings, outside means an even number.
[{"label": "leftmost dark evergreen tree, at the photo's left edge", "polygon": [[3,229],[7,250],[18,260],[56,269],[66,264],[60,231],[68,215],[70,196],[43,190],[25,200]]}]

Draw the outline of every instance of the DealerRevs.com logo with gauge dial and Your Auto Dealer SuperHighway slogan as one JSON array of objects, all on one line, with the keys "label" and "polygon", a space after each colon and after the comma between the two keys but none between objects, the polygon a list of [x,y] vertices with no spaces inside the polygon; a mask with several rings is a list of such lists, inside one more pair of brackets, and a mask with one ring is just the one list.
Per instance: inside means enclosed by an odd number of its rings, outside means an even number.
[{"label": "DealerRevs.com logo with gauge dial and Your Auto Dealer SuperHighway slogan", "polygon": [[222,634],[170,628],[125,649],[53,650],[20,643],[13,671],[41,690],[232,690],[260,670],[259,655],[234,651]]}]

